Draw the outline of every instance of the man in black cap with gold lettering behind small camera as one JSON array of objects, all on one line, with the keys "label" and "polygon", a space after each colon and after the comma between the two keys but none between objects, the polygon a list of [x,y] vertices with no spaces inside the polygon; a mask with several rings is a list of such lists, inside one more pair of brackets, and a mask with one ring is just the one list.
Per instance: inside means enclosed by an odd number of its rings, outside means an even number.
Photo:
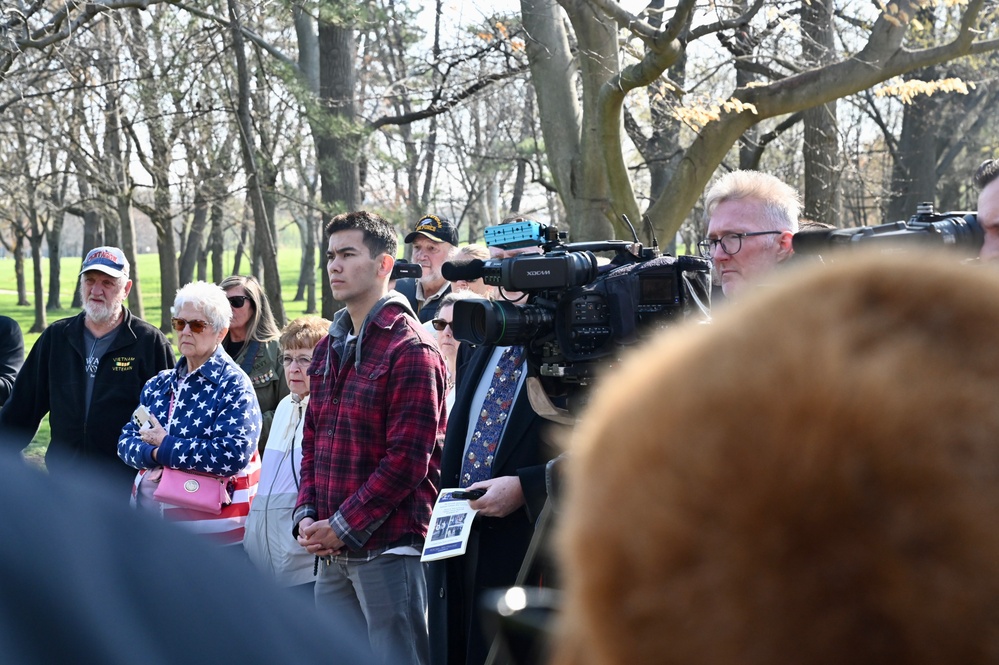
[{"label": "man in black cap with gold lettering behind small camera", "polygon": [[413,263],[423,268],[417,279],[400,279],[396,291],[407,298],[420,321],[426,323],[437,316],[441,298],[451,292],[451,283],[441,275],[441,266],[449,261],[458,245],[458,229],[447,217],[424,215],[416,228],[406,236],[413,245]]}]

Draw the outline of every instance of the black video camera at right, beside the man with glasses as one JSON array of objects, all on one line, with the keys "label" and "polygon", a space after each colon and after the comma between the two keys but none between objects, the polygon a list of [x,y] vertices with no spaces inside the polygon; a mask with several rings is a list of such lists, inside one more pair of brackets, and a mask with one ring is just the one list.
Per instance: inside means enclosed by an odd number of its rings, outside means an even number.
[{"label": "black video camera at right, beside the man with glasses", "polygon": [[968,257],[982,248],[982,228],[974,212],[933,211],[932,203],[920,203],[907,222],[853,229],[801,231],[794,235],[795,254],[825,255],[834,248],[880,248],[899,251],[913,247],[943,246]]}]

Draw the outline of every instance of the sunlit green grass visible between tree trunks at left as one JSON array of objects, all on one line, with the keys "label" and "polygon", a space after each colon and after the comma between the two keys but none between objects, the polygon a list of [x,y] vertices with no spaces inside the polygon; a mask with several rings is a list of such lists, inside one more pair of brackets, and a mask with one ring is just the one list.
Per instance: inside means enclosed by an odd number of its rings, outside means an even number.
[{"label": "sunlit green grass visible between tree trunks at left", "polygon": [[[226,267],[231,269],[233,253],[226,253]],[[290,321],[298,316],[305,314],[305,301],[292,302],[292,298],[295,296],[295,292],[298,290],[298,270],[299,264],[301,262],[301,250],[298,247],[284,247],[282,246],[278,251],[278,271],[281,274],[281,296],[284,300],[285,315]],[[134,269],[134,273],[138,275],[139,287],[142,295],[142,305],[145,309],[145,318],[150,323],[154,325],[159,324],[159,312],[160,312],[160,273],[159,273],[159,257],[156,254],[140,254],[136,260],[137,266]],[[246,272],[247,262],[244,259],[242,266],[243,272]],[[70,309],[69,305],[73,302],[73,291],[78,287],[77,272],[80,269],[80,258],[63,258],[62,264],[62,277],[60,279],[60,304],[63,306],[62,309],[55,309],[46,312],[46,320],[48,323],[57,321],[59,319],[66,318],[68,316],[75,316],[79,313],[78,309]],[[42,300],[47,298],[48,294],[48,282],[49,282],[49,261],[48,259],[42,260],[42,289],[43,295]],[[32,285],[34,284],[33,277],[33,267],[31,260],[25,261],[25,281],[28,284],[28,300],[32,303],[29,306],[18,306],[17,304],[17,292],[16,292],[16,281],[14,276],[14,260],[10,257],[0,259],[0,314],[4,316],[9,316],[15,321],[17,321],[21,326],[21,331],[24,333],[24,347],[25,353],[27,353],[34,343],[38,340],[41,333],[29,333],[28,330],[35,322],[35,294],[32,292]],[[258,276],[259,277],[259,276]],[[317,280],[317,288],[322,284],[321,281]],[[317,294],[317,298],[319,298]],[[48,418],[46,417],[42,424],[38,428],[38,433],[35,438],[32,439],[31,444],[24,451],[25,458],[27,458],[32,463],[42,464],[43,456],[45,455],[45,449],[49,444],[49,424]]]}]

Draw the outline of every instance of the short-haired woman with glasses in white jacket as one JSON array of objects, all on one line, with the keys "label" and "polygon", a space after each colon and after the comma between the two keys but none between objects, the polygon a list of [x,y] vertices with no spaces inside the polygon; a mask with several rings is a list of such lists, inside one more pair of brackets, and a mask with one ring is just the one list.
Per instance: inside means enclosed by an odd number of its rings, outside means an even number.
[{"label": "short-haired woman with glasses in white jacket", "polygon": [[278,583],[303,587],[312,594],[315,557],[291,535],[291,516],[298,500],[302,466],[302,426],[309,403],[312,351],[326,336],[330,322],[318,316],[295,319],[281,332],[281,363],[290,394],[274,412],[267,454],[260,470],[257,496],[246,519],[243,547],[250,560]]}]

